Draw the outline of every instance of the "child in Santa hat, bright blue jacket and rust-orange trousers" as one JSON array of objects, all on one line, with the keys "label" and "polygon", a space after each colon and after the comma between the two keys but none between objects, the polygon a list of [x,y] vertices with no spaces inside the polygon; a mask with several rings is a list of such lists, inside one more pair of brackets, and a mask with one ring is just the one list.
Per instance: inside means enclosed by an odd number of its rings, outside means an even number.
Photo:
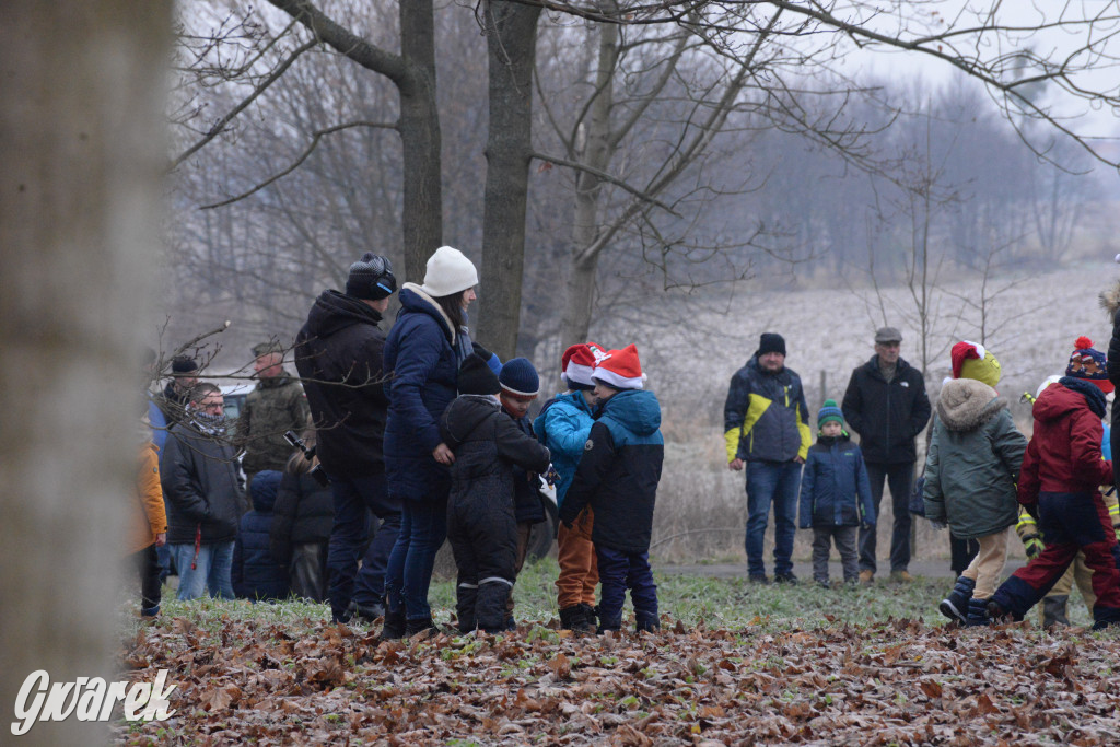
[{"label": "child in Santa hat, bright blue jacket and rust-orange trousers", "polygon": [[[552,452],[552,466],[560,475],[557,483],[557,506],[562,508],[568,488],[576,477],[576,467],[584,456],[584,446],[595,424],[595,373],[597,356],[606,352],[595,343],[580,343],[564,351],[560,358],[560,379],[568,391],[557,394],[533,421],[533,430]],[[595,587],[599,585],[599,567],[591,543],[594,516],[587,506],[571,527],[560,525],[557,532],[557,603],[560,627],[579,633],[595,633]]]}]

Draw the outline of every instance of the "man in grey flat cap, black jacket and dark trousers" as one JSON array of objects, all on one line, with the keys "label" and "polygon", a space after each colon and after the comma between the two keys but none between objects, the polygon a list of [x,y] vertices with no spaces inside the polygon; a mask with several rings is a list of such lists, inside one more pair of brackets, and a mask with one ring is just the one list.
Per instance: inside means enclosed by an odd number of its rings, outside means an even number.
[{"label": "man in grey flat cap, black jacket and dark trousers", "polygon": [[[875,355],[851,372],[843,395],[843,417],[859,433],[859,447],[871,482],[878,516],[883,483],[890,485],[894,525],[890,533],[890,578],[908,581],[911,559],[909,492],[917,452],[915,437],[930,421],[930,398],[922,373],[899,357],[903,335],[894,327],[875,333]],[[859,530],[859,580],[875,578],[876,526]]]}]

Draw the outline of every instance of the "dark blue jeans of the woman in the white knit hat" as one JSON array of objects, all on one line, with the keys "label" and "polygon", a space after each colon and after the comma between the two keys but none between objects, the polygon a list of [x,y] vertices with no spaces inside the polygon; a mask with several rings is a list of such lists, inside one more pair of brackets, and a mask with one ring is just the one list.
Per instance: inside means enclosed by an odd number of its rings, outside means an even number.
[{"label": "dark blue jeans of the woman in the white knit hat", "polygon": [[401,531],[385,570],[385,606],[394,613],[403,606],[408,620],[427,620],[431,619],[431,571],[447,539],[447,495],[401,503]]}]

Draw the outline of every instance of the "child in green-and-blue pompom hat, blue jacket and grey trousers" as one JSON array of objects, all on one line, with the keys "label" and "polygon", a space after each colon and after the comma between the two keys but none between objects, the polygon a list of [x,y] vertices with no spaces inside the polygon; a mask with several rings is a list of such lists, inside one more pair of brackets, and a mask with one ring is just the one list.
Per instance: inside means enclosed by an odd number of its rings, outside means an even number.
[{"label": "child in green-and-blue pompom hat, blue jacket and grey trousers", "polygon": [[816,413],[820,429],[801,477],[801,529],[813,529],[813,580],[829,586],[829,550],[840,553],[843,580],[859,581],[859,529],[875,526],[875,504],[864,454],[843,430],[836,400]]}]

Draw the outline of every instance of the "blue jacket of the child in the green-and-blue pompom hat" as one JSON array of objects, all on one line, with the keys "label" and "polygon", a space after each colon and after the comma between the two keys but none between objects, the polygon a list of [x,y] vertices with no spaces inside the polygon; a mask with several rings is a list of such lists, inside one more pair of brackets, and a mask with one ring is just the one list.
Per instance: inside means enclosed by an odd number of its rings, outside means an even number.
[{"label": "blue jacket of the child in the green-and-blue pompom hat", "polygon": [[867,466],[847,433],[821,436],[809,449],[797,515],[801,529],[875,524]]}]

